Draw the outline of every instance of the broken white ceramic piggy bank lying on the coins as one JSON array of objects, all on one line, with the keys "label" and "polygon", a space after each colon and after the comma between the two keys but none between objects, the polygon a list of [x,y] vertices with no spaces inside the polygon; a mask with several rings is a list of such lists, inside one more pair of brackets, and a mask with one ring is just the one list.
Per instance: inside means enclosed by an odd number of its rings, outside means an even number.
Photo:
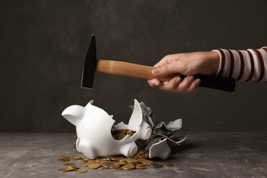
[{"label": "broken white ceramic piggy bank lying on the coins", "polygon": [[138,101],[134,100],[134,109],[129,124],[119,123],[114,127],[114,129],[136,131],[133,136],[125,136],[123,140],[115,140],[112,137],[111,129],[115,120],[92,103],[93,101],[90,101],[86,107],[71,105],[62,112],[62,116],[76,126],[77,151],[91,159],[114,155],[126,157],[136,155],[138,147],[135,141],[148,139],[152,132],[150,125],[142,118],[142,110]]}]

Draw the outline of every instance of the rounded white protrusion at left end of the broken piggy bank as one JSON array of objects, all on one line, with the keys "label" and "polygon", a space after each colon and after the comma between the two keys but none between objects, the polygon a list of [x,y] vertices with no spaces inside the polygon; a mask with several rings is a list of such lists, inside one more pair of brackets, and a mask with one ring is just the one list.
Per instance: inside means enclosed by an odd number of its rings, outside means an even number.
[{"label": "rounded white protrusion at left end of the broken piggy bank", "polygon": [[85,111],[85,107],[81,105],[71,105],[62,112],[62,116],[76,126],[79,120],[84,117]]}]

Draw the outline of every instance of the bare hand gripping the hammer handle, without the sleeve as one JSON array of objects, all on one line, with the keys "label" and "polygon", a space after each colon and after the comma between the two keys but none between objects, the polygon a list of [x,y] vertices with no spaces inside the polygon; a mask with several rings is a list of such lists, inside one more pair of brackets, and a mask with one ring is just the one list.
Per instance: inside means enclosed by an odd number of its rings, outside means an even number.
[{"label": "bare hand gripping the hammer handle, without the sleeve", "polygon": [[181,77],[173,77],[169,81],[159,79],[148,80],[149,86],[157,87],[162,90],[172,92],[191,92],[201,83],[200,79],[194,79],[193,75],[215,75],[220,64],[220,55],[216,51],[177,53],[166,55],[160,62],[155,64],[157,67],[152,70],[152,74],[157,78],[179,73],[188,75],[183,80]]}]

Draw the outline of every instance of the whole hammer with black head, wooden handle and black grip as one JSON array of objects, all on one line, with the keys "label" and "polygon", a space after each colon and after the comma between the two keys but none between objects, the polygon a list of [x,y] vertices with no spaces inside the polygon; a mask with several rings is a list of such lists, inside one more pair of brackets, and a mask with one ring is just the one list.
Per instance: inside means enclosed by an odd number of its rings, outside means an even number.
[{"label": "whole hammer with black head, wooden handle and black grip", "polygon": [[[95,36],[91,36],[88,50],[86,51],[86,57],[84,58],[84,68],[81,77],[82,88],[92,88],[94,82],[94,72],[107,73],[112,75],[122,75],[125,77],[135,77],[140,79],[155,79],[152,74],[152,70],[155,67],[143,66],[139,64],[133,64],[129,62],[120,62],[113,60],[97,60],[97,47],[95,42]],[[164,78],[160,78],[160,81],[169,81],[173,77],[179,76],[184,79],[185,75],[173,74]],[[236,87],[236,79],[230,77],[216,77],[213,75],[194,75],[194,78],[201,79],[199,86],[205,88],[213,88],[217,90],[223,90],[227,92],[233,92]]]}]

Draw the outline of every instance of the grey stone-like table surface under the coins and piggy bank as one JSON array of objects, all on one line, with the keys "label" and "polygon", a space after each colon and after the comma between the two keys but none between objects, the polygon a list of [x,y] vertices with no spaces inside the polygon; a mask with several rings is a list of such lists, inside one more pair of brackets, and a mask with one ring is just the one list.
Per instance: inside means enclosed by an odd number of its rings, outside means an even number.
[{"label": "grey stone-like table surface under the coins and piggy bank", "polygon": [[[0,133],[0,177],[267,177],[267,132],[183,133],[173,167],[58,173],[59,155],[79,155],[76,133]],[[75,161],[79,165],[79,161]]]}]

